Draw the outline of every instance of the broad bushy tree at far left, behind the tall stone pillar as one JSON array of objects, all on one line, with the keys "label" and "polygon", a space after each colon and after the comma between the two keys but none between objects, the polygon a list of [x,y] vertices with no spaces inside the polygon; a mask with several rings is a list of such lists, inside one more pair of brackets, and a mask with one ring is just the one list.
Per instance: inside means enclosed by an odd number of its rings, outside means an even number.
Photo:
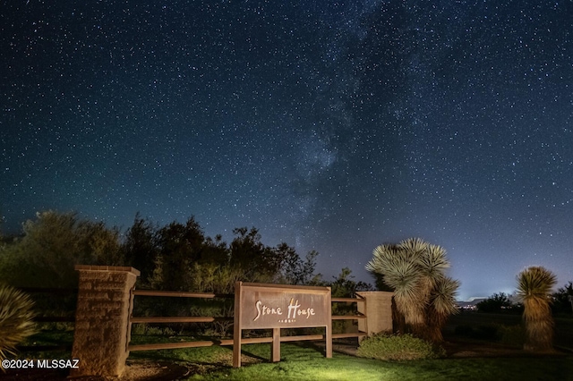
[{"label": "broad bushy tree at far left, behind the tall stone pillar", "polygon": [[74,287],[75,265],[121,266],[119,230],[45,211],[23,224],[23,236],[3,250],[0,275],[14,286]]}]

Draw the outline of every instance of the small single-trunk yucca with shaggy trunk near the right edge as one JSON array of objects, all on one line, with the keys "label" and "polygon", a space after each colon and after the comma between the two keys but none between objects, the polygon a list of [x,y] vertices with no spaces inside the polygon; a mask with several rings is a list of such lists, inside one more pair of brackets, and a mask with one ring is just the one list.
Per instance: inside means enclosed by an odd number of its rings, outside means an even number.
[{"label": "small single-trunk yucca with shaggy trunk near the right edge", "polygon": [[552,349],[551,292],[557,277],[544,267],[528,267],[517,275],[517,297],[523,302],[528,351]]}]

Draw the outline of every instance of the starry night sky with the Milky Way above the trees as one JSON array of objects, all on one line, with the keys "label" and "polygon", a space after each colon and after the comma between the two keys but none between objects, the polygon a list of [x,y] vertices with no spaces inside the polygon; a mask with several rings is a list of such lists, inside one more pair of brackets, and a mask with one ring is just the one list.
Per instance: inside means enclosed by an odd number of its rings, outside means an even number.
[{"label": "starry night sky with the Milky Way above the trees", "polygon": [[[87,4],[86,4],[87,3]],[[443,246],[459,299],[573,280],[573,3],[0,2],[0,214]]]}]

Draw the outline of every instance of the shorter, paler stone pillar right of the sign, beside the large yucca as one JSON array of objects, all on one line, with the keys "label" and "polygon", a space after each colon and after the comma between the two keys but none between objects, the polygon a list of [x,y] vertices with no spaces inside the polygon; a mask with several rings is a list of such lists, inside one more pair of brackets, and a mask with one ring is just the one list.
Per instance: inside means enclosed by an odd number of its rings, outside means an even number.
[{"label": "shorter, paler stone pillar right of the sign, beside the large yucca", "polygon": [[358,330],[366,332],[368,335],[379,332],[392,332],[392,296],[394,292],[386,291],[361,291],[356,292],[366,300],[358,303],[358,312],[366,315],[364,319],[358,320]]}]

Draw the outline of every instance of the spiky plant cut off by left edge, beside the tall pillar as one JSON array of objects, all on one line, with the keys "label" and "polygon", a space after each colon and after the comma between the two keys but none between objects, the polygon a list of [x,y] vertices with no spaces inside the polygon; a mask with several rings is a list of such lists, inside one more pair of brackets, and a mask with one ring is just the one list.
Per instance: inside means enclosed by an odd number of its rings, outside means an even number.
[{"label": "spiky plant cut off by left edge, beside the tall pillar", "polygon": [[16,345],[35,333],[33,304],[24,292],[0,285],[0,360],[15,354]]}]

